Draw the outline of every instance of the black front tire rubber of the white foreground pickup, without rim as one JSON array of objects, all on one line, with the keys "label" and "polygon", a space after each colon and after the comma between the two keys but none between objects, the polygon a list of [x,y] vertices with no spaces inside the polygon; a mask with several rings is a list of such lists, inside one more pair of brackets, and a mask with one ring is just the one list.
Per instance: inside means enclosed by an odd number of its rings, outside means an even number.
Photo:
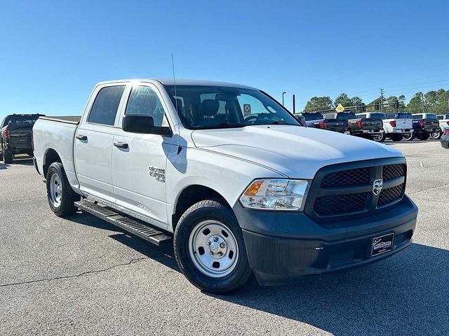
[{"label": "black front tire rubber of the white foreground pickup, without rim", "polygon": [[[232,232],[239,248],[236,265],[232,272],[222,277],[212,277],[196,267],[189,253],[189,237],[199,223],[207,220],[219,221]],[[198,202],[181,216],[173,241],[175,258],[182,274],[197,288],[211,293],[225,294],[238,290],[248,281],[253,271],[246,255],[243,234],[232,209],[215,200]],[[205,253],[203,251],[203,253]],[[206,252],[207,253],[207,252]]]}]

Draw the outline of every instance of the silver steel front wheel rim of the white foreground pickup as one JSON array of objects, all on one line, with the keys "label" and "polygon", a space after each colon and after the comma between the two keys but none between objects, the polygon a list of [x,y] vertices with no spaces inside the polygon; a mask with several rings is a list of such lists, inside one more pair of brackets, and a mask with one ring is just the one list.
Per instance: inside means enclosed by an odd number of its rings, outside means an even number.
[{"label": "silver steel front wheel rim of the white foreground pickup", "polygon": [[220,221],[207,220],[190,232],[189,255],[199,271],[213,278],[230,274],[239,260],[234,234]]}]

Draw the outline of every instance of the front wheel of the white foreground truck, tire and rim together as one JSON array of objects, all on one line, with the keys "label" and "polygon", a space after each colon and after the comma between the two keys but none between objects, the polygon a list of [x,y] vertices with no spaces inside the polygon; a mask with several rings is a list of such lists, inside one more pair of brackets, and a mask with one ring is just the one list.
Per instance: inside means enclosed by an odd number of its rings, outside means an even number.
[{"label": "front wheel of the white foreground truck, tire and rim together", "polygon": [[174,248],[182,273],[201,290],[229,293],[252,273],[234,213],[214,200],[185,211],[175,230]]}]

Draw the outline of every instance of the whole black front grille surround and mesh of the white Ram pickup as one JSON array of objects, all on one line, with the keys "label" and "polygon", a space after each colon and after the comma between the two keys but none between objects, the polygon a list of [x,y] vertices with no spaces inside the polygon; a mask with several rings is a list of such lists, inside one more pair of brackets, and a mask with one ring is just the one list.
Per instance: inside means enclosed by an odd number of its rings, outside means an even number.
[{"label": "whole black front grille surround and mesh of the white Ram pickup", "polygon": [[[366,160],[324,167],[316,173],[304,212],[318,222],[342,221],[389,209],[402,200],[407,167],[403,158]],[[384,181],[380,194],[373,183]]]}]

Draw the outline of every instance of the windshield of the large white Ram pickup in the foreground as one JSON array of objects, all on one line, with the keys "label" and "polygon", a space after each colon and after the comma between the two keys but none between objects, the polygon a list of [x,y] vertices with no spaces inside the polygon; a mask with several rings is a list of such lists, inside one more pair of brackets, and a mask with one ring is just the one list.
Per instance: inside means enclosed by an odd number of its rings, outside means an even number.
[{"label": "windshield of the large white Ram pickup in the foreground", "polygon": [[182,125],[190,130],[250,125],[301,125],[258,90],[240,87],[166,85]]}]

